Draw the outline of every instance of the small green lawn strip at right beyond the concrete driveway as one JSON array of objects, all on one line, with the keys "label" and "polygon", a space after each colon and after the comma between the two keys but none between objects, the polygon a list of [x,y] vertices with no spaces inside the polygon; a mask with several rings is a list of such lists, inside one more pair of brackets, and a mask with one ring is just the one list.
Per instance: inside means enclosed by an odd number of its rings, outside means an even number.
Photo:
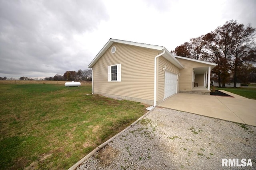
[{"label": "small green lawn strip at right beyond the concrete driveway", "polygon": [[231,92],[234,94],[238,94],[240,96],[249,98],[249,99],[256,99],[256,88],[232,88],[232,87],[226,87],[226,88],[217,88],[216,90],[226,90],[227,92]]}]

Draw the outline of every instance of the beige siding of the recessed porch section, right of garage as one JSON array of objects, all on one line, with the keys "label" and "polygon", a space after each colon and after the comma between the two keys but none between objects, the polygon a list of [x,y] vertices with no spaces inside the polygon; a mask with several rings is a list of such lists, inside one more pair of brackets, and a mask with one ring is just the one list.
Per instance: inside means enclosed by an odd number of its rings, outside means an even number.
[{"label": "beige siding of the recessed porch section, right of garage", "polygon": [[186,59],[176,59],[184,66],[183,69],[180,69],[180,91],[191,92],[194,86],[192,82],[193,68],[206,67],[209,65],[195,61],[189,61]]}]

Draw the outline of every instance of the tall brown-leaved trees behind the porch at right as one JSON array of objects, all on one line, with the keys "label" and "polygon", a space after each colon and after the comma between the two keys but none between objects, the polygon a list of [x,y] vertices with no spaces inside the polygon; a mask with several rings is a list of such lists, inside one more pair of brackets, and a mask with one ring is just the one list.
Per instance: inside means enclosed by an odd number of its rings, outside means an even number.
[{"label": "tall brown-leaved trees behind the porch at right", "polygon": [[190,39],[171,53],[218,64],[213,73],[219,87],[230,81],[236,87],[236,82],[256,82],[255,40],[255,28],[231,20],[206,35]]}]

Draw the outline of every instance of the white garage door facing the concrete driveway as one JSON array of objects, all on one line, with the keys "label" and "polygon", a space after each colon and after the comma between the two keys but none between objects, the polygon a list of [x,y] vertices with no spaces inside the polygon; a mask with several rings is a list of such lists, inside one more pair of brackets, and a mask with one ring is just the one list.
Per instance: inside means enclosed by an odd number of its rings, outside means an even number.
[{"label": "white garage door facing the concrete driveway", "polygon": [[165,71],[164,74],[164,98],[168,98],[177,91],[177,74]]}]

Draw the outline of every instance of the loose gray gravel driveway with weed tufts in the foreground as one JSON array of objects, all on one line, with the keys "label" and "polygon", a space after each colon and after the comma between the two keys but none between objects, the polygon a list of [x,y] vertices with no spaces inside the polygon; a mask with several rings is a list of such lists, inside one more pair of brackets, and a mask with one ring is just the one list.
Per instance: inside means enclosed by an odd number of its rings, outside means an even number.
[{"label": "loose gray gravel driveway with weed tufts in the foreground", "polygon": [[[222,167],[222,158],[253,167]],[[77,170],[255,168],[256,127],[157,107]]]}]

